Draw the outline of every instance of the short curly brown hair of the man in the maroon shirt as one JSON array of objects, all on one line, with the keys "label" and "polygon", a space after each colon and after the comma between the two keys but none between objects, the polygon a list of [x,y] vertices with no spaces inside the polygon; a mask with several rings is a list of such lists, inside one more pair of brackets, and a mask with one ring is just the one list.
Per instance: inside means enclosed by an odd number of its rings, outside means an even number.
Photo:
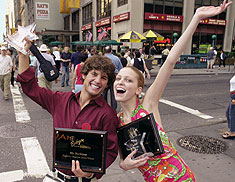
[{"label": "short curly brown hair of the man in the maroon shirt", "polygon": [[89,57],[81,67],[80,73],[87,75],[91,70],[106,73],[108,75],[108,85],[111,85],[115,79],[115,66],[112,61],[105,56],[94,55]]}]

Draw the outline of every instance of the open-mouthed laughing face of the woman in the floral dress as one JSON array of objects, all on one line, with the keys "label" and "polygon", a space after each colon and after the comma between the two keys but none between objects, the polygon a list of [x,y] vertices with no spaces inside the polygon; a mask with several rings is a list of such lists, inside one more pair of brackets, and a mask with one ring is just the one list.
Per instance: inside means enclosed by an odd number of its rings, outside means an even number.
[{"label": "open-mouthed laughing face of the woman in the floral dress", "polygon": [[143,87],[139,84],[139,75],[130,67],[121,69],[114,82],[114,96],[119,102],[137,98]]}]

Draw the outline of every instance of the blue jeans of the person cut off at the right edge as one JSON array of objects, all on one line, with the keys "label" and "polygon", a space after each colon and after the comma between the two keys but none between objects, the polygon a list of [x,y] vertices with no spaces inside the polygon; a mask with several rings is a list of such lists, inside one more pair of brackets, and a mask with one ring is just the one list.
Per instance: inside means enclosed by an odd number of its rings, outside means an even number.
[{"label": "blue jeans of the person cut off at the right edge", "polygon": [[235,94],[231,94],[231,99],[226,111],[226,117],[228,120],[228,128],[231,132],[235,132],[235,104],[232,104],[232,100],[235,99]]}]

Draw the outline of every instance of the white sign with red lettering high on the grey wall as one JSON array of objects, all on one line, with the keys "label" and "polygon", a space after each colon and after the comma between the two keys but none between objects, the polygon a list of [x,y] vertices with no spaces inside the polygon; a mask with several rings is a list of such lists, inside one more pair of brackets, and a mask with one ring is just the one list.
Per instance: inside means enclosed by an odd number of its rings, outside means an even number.
[{"label": "white sign with red lettering high on the grey wall", "polygon": [[49,3],[36,2],[36,19],[38,20],[49,20]]}]

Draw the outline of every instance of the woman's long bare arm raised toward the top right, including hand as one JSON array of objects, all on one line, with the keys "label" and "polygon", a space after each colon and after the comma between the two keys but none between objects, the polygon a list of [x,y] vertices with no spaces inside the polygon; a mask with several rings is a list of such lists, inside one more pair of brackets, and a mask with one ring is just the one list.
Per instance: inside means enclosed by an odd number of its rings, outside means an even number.
[{"label": "woman's long bare arm raised toward the top right, including hand", "polygon": [[229,7],[231,4],[232,2],[226,3],[226,0],[224,0],[223,4],[218,7],[203,6],[196,10],[196,13],[194,14],[187,29],[184,31],[184,33],[181,35],[181,37],[171,49],[165,63],[159,70],[155,81],[146,92],[143,101],[143,105],[146,109],[149,109],[150,112],[156,111],[159,99],[162,96],[162,93],[168,83],[168,80],[174,69],[175,63],[177,62],[183,50],[187,46],[189,39],[193,36],[200,20],[220,14],[221,12],[226,10],[226,8]]}]

